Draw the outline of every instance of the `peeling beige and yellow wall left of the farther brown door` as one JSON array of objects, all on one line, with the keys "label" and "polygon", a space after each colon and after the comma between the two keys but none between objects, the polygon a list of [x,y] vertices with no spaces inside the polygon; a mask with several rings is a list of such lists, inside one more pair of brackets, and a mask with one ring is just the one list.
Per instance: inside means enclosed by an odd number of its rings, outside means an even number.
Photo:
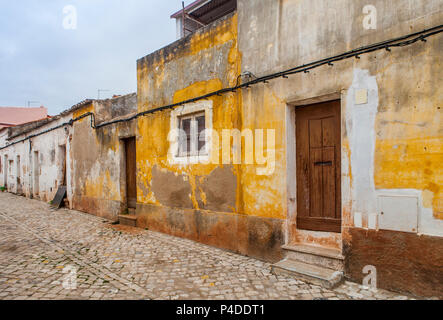
[{"label": "peeling beige and yellow wall left of the farther brown door", "polygon": [[[136,94],[96,100],[74,113],[94,112],[97,124],[125,118],[137,111]],[[110,220],[126,206],[125,148],[122,139],[135,136],[135,122],[123,122],[94,130],[90,119],[73,129],[73,208]]]}]

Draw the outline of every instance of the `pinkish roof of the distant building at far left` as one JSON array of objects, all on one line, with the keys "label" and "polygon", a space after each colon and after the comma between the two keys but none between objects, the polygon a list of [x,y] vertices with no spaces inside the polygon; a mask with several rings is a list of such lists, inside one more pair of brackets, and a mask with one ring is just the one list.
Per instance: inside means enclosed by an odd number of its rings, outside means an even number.
[{"label": "pinkish roof of the distant building at far left", "polygon": [[45,107],[0,107],[0,130],[48,118]]}]

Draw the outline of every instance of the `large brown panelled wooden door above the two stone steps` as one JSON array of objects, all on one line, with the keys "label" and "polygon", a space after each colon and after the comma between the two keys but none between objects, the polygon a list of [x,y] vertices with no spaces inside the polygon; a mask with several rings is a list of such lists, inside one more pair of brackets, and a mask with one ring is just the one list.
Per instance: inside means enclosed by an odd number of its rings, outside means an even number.
[{"label": "large brown panelled wooden door above the two stone steps", "polygon": [[340,102],[297,108],[297,228],[341,232]]}]

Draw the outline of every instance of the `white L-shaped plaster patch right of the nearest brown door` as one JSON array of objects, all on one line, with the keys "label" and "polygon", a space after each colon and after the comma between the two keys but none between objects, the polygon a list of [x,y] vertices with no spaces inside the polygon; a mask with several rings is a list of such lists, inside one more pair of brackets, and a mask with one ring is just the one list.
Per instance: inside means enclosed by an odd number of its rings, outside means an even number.
[{"label": "white L-shaped plaster patch right of the nearest brown door", "polygon": [[[361,88],[366,88],[369,92],[368,103],[365,105],[356,105],[355,93]],[[375,215],[376,224],[372,229],[379,227],[377,221],[383,218],[381,213],[386,210],[394,210],[390,217],[392,222],[388,221],[385,226],[390,230],[402,231],[400,228],[396,228],[397,223],[405,223],[405,219],[410,219],[407,224],[413,226],[410,228],[412,232],[418,232],[419,234],[426,234],[431,236],[443,236],[443,220],[437,219],[439,208],[436,208],[436,214],[433,215],[433,210],[430,208],[431,204],[426,204],[423,194],[428,191],[420,189],[408,189],[408,188],[393,188],[393,189],[376,189],[374,176],[374,158],[375,153],[384,153],[386,150],[376,150],[376,132],[375,132],[375,120],[378,110],[378,86],[374,76],[370,76],[367,71],[356,69],[354,70],[354,80],[350,90],[348,91],[347,101],[349,113],[346,115],[346,130],[349,138],[349,148],[351,150],[351,168],[353,173],[352,194],[353,199],[353,212],[354,212],[354,224],[357,223],[360,227],[368,227],[368,218],[370,215]],[[383,125],[389,123],[386,120],[381,120]],[[401,123],[401,121],[400,121]],[[401,145],[392,146],[394,152]],[[404,147],[404,146],[403,146]],[[422,146],[426,148],[426,143]],[[438,151],[438,150],[435,150]],[[382,155],[377,155],[380,159]],[[404,154],[406,156],[406,154]],[[438,153],[435,155],[441,157]],[[397,159],[402,161],[401,156]],[[443,158],[442,158],[443,160]],[[386,161],[386,160],[382,160]],[[423,164],[425,165],[425,164]],[[391,168],[388,174],[391,175],[395,172],[396,168]],[[420,170],[419,168],[411,168],[412,170]],[[380,170],[380,169],[378,169]],[[412,171],[411,170],[411,171]],[[401,171],[398,172],[401,174]],[[410,173],[408,173],[410,174]],[[379,177],[380,178],[380,177]],[[399,180],[398,178],[394,178]],[[439,177],[432,177],[433,179],[439,179]],[[391,183],[391,182],[390,182]],[[430,182],[432,183],[432,182]],[[411,184],[411,187],[413,185]],[[431,192],[432,193],[432,192]],[[379,199],[380,197],[403,197],[416,198],[418,200],[418,207],[416,209],[416,215],[406,216],[400,211],[395,211],[395,208],[389,205],[388,207],[382,207]],[[431,198],[438,195],[431,195]],[[428,207],[426,207],[428,206]],[[383,215],[387,214],[383,212]],[[395,221],[398,221],[397,223]]]}]

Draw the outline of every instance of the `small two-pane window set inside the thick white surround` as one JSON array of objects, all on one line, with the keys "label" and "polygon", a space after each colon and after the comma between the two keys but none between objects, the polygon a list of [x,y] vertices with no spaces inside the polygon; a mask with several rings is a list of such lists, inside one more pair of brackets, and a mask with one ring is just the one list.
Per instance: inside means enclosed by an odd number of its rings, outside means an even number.
[{"label": "small two-pane window set inside the thick white surround", "polygon": [[206,129],[205,113],[195,113],[178,118],[179,136],[179,157],[206,155],[206,136],[203,134]]}]

